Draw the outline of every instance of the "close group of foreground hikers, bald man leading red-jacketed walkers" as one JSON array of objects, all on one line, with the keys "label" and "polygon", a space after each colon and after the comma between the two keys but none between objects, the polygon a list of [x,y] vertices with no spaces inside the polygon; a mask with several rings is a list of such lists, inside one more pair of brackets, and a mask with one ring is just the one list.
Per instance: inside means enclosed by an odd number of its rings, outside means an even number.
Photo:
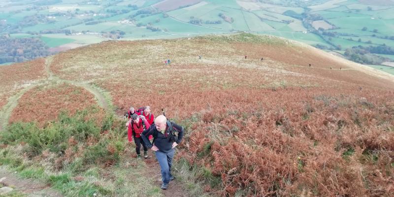
[{"label": "close group of foreground hikers, bald man leading red-jacketed walkers", "polygon": [[[166,190],[170,181],[174,180],[171,174],[172,159],[175,147],[181,143],[184,128],[167,120],[165,115],[155,118],[150,106],[140,107],[137,110],[131,107],[125,115],[128,118],[128,140],[134,139],[137,159],[142,159],[140,149],[144,149],[144,158],[148,158],[148,148],[155,152],[162,173],[163,184]],[[176,133],[178,135],[176,135]]]}]

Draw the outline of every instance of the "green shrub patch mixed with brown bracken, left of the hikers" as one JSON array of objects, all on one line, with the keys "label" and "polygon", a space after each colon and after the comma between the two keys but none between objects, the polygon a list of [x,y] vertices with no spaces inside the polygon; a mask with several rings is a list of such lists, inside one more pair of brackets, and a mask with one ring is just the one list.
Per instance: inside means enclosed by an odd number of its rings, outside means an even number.
[{"label": "green shrub patch mixed with brown bracken, left of the hikers", "polygon": [[[94,109],[92,109],[94,110]],[[34,123],[14,123],[1,133],[3,144],[26,144],[24,152],[35,157],[47,151],[58,158],[55,168],[63,166],[81,171],[86,164],[115,164],[125,150],[123,122],[107,115],[102,125],[90,117],[89,109],[69,116],[60,113],[58,121],[39,128]]]}]

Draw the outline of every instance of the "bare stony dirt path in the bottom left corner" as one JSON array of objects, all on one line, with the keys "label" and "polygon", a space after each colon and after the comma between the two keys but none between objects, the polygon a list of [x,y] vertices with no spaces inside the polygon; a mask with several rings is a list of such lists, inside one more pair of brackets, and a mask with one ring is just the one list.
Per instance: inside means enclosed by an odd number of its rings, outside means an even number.
[{"label": "bare stony dirt path in the bottom left corner", "polygon": [[0,169],[0,183],[21,191],[29,197],[63,197],[63,195],[50,189],[50,186],[33,179],[21,179],[15,174]]}]

